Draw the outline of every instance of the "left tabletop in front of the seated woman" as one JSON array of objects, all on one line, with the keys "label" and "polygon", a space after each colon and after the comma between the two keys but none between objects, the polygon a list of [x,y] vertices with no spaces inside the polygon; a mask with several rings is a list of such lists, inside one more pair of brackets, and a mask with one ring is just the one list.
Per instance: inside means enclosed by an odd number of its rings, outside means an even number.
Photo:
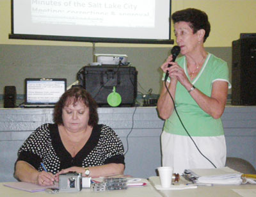
[{"label": "left tabletop in front of the seated woman", "polygon": [[[122,190],[115,190],[115,191],[104,191],[104,192],[93,192],[90,189],[82,189],[82,191],[75,192],[75,193],[68,193],[68,192],[60,192],[54,194],[54,196],[61,196],[61,197],[72,197],[72,196],[111,196],[111,197],[120,197],[120,196],[147,196],[147,197],[159,197],[159,194],[156,189],[148,182],[147,179],[141,178],[142,182],[147,183],[144,187],[128,187],[128,189]],[[52,196],[52,194],[46,193],[45,191],[37,192],[37,193],[29,193],[27,191],[21,191],[19,189],[13,189],[10,187],[6,187],[3,185],[4,182],[0,183],[0,196],[8,196],[8,197],[29,197],[29,196]]]}]

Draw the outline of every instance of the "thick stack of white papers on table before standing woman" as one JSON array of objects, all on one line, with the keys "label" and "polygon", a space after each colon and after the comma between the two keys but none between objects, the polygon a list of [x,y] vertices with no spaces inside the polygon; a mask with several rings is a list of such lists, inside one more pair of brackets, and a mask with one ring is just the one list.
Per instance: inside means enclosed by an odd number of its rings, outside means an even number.
[{"label": "thick stack of white papers on table before standing woman", "polygon": [[214,185],[240,185],[243,182],[242,173],[234,169],[211,168],[211,169],[186,169],[185,174],[192,177],[196,184],[214,184]]}]

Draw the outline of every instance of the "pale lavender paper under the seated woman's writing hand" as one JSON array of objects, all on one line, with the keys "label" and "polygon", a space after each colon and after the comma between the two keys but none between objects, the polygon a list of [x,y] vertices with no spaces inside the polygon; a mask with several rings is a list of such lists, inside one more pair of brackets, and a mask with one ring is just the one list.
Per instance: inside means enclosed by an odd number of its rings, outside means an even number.
[{"label": "pale lavender paper under the seated woman's writing hand", "polygon": [[51,186],[40,186],[36,184],[29,184],[27,182],[7,182],[3,184],[6,187],[12,187],[14,189],[20,189],[23,191],[28,191],[30,193],[35,193],[38,191],[45,191],[45,189],[50,187],[56,187],[55,185]]}]

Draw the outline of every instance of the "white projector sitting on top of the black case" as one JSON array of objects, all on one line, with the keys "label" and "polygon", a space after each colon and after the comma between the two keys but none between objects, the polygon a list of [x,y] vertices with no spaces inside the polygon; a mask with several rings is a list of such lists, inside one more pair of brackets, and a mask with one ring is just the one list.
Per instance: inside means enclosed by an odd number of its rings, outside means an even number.
[{"label": "white projector sitting on top of the black case", "polygon": [[95,54],[93,61],[102,65],[127,65],[127,58],[124,54]]}]

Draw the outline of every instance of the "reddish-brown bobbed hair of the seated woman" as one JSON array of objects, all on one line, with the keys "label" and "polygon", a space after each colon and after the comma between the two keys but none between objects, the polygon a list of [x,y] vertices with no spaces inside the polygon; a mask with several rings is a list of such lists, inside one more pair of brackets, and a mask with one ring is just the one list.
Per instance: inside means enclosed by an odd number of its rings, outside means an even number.
[{"label": "reddish-brown bobbed hair of the seated woman", "polygon": [[84,88],[74,87],[65,91],[61,95],[60,100],[56,103],[54,107],[53,120],[54,123],[58,125],[63,125],[62,120],[62,109],[67,106],[67,102],[73,102],[75,104],[77,100],[82,101],[87,107],[89,107],[89,122],[88,125],[95,126],[99,122],[99,116],[97,112],[97,103],[92,98],[90,93],[88,93]]}]

